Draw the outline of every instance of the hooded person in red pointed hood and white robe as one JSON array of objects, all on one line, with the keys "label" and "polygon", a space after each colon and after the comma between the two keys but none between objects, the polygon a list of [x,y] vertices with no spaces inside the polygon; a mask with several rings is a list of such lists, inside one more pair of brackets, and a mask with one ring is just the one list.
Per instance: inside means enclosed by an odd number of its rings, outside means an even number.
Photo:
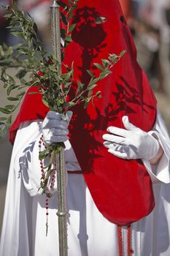
[{"label": "hooded person in red pointed hood and white robe", "polygon": [[[120,4],[80,0],[73,22],[77,26],[63,62],[74,60],[75,81],[87,84],[86,69],[98,74],[93,63],[109,53],[126,53],[98,83],[102,98],[95,108],[77,105],[73,116],[66,113],[66,121],[43,105],[41,94],[26,94],[10,129],[14,148],[0,255],[58,255],[56,187],[48,205],[47,236],[46,197],[38,192],[43,135],[45,143],[66,143],[69,256],[168,256],[169,135],[136,62]],[[117,226],[122,228],[122,246]]]}]

